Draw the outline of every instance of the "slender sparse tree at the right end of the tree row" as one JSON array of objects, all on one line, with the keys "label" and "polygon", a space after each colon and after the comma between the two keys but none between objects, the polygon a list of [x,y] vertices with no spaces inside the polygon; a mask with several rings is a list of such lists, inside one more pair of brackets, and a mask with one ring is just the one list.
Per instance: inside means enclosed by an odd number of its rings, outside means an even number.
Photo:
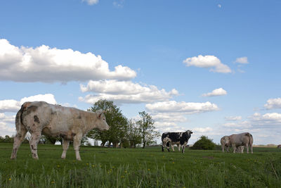
[{"label": "slender sparse tree at the right end of the tree row", "polygon": [[143,148],[145,148],[145,146],[154,143],[153,139],[159,137],[160,133],[158,131],[155,131],[155,126],[153,125],[154,120],[152,120],[150,114],[142,111],[139,112],[139,115],[141,116],[141,120],[138,120],[137,124],[140,127]]}]

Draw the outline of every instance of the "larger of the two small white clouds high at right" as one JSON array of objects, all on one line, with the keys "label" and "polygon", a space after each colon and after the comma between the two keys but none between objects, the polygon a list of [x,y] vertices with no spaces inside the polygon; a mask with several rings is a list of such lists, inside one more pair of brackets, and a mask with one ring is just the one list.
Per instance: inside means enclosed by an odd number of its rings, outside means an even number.
[{"label": "larger of the two small white clouds high at right", "polygon": [[211,68],[210,71],[216,73],[231,73],[231,69],[228,65],[221,63],[216,56],[195,56],[192,58],[186,58],[183,63],[189,66],[195,66],[199,68]]}]

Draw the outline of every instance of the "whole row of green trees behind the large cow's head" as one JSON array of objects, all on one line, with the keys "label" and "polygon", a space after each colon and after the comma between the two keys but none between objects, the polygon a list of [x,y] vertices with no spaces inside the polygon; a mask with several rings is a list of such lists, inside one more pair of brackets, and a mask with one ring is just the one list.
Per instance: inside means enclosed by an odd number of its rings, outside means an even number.
[{"label": "whole row of green trees behind the large cow's head", "polygon": [[155,138],[159,137],[159,132],[155,130],[151,115],[145,111],[139,112],[141,119],[133,120],[126,118],[119,107],[113,101],[105,99],[97,101],[88,111],[105,111],[105,118],[110,130],[99,132],[91,130],[86,137],[101,141],[101,146],[112,144],[113,147],[121,145],[122,147],[136,148],[138,144],[145,146],[156,144]]}]

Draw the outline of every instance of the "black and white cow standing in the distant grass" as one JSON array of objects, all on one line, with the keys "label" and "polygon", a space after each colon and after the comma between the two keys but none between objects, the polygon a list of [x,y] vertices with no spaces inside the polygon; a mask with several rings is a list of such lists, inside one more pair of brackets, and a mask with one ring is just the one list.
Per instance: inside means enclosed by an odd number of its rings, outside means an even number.
[{"label": "black and white cow standing in the distant grass", "polygon": [[171,144],[171,148],[174,151],[174,144],[178,145],[178,150],[180,150],[180,146],[184,153],[184,149],[186,144],[188,144],[188,139],[190,139],[191,134],[193,132],[191,130],[187,130],[185,132],[164,132],[162,134],[162,151],[164,151],[164,147],[166,146],[167,150],[169,150],[169,145]]}]

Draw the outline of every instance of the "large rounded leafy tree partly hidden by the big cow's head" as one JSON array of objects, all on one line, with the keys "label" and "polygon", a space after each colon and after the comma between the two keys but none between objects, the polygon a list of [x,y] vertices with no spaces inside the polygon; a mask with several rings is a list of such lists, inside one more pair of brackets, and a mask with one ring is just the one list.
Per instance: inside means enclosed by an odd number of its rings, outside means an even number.
[{"label": "large rounded leafy tree partly hidden by the big cow's head", "polygon": [[108,145],[112,143],[113,147],[117,147],[119,142],[122,142],[122,139],[126,138],[128,120],[122,115],[122,111],[113,104],[113,101],[107,101],[105,99],[96,101],[88,111],[96,112],[98,110],[105,111],[106,122],[110,126],[110,129],[103,132],[91,130],[87,134],[87,137],[101,140],[102,146],[108,141]]}]

